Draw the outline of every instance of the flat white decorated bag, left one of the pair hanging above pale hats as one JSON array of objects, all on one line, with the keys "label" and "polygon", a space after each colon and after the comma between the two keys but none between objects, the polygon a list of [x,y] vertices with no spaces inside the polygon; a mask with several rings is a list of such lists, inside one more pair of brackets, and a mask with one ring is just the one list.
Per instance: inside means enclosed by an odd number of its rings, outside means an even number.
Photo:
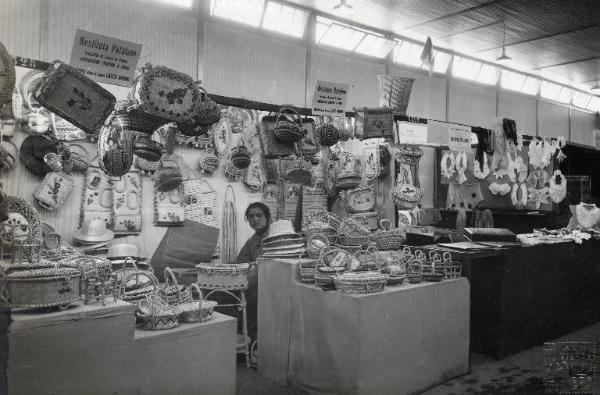
[{"label": "flat white decorated bag, left one of the pair hanging above pale hats", "polygon": [[85,173],[81,194],[81,209],[78,227],[83,222],[101,219],[109,229],[113,228],[113,191],[110,178],[95,166]]}]

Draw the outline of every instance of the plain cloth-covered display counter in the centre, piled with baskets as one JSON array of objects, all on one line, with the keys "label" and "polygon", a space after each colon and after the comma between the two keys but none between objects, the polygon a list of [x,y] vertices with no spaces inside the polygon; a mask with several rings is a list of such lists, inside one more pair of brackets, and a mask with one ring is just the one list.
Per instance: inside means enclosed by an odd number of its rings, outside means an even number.
[{"label": "plain cloth-covered display counter in the centre, piled with baskets", "polygon": [[469,371],[469,282],[343,295],[294,283],[289,380],[308,392],[403,394]]}]

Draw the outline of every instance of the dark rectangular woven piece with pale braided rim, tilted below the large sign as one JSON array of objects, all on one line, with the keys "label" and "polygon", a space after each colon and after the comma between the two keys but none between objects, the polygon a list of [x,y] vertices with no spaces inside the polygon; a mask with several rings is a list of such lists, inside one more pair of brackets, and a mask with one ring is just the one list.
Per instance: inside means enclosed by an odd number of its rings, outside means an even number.
[{"label": "dark rectangular woven piece with pale braided rim, tilted below the large sign", "polygon": [[55,62],[35,92],[36,100],[86,133],[96,132],[110,115],[115,97],[75,68]]}]

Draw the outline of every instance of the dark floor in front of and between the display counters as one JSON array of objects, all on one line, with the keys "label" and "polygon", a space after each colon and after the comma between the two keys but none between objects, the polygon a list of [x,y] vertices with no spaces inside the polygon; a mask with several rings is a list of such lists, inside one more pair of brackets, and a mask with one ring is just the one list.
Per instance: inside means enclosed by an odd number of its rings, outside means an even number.
[{"label": "dark floor in front of and between the display counters", "polygon": [[[557,341],[600,344],[600,323],[570,333],[557,339]],[[600,351],[600,346],[598,350]],[[591,354],[595,361],[600,362],[599,352],[596,352],[595,348]],[[545,393],[544,376],[548,376],[544,365],[547,361],[548,357],[544,357],[543,345],[533,347],[500,361],[481,354],[471,354],[471,372],[469,374],[447,381],[423,392],[423,394],[543,394]],[[600,364],[596,366],[600,368]],[[561,374],[564,376],[562,379],[559,377],[558,380],[563,380],[562,383],[568,385],[573,391],[575,390],[575,384],[568,378],[566,373],[566,369],[562,373],[554,371],[556,377]],[[570,393],[600,394],[599,381],[596,375],[591,382],[583,382],[583,387],[579,388],[579,392]],[[256,370],[248,369],[243,365],[238,365],[237,393],[240,395],[301,394],[299,391],[278,385],[259,376],[256,374]]]}]

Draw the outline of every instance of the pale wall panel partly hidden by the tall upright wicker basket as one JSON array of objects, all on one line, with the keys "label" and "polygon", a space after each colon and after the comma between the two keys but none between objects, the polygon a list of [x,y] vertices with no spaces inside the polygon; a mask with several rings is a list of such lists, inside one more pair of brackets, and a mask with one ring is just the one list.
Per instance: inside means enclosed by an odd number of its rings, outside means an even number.
[{"label": "pale wall panel partly hidden by the tall upright wicker basket", "polygon": [[401,67],[390,67],[390,74],[399,77],[414,78],[413,89],[406,113],[411,116],[446,119],[446,80],[415,73]]}]

